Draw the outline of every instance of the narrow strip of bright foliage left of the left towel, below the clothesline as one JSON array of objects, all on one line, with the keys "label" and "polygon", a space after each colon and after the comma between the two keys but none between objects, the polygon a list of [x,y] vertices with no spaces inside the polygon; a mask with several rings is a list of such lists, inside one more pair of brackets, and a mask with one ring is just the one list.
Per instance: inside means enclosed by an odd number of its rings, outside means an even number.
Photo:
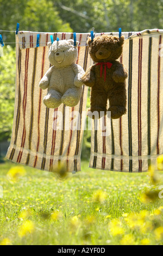
[{"label": "narrow strip of bright foliage left of the left towel, below the clothesline", "polygon": [[0,141],[11,136],[15,99],[15,50],[3,47],[0,57]]}]

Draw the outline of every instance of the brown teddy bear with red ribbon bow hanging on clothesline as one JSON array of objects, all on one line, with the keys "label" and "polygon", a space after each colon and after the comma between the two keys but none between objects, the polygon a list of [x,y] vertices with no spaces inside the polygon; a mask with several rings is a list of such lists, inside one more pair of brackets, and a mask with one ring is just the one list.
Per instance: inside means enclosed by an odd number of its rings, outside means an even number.
[{"label": "brown teddy bear with red ribbon bow hanging on clothesline", "polygon": [[[91,107],[87,115],[93,119],[100,118],[100,112],[106,114],[107,102],[111,118],[117,119],[126,113],[126,78],[127,70],[117,59],[122,54],[124,36],[118,38],[112,35],[97,36],[87,40],[89,53],[95,62],[86,70],[82,81],[91,87]],[[92,115],[97,111],[97,115]]]}]

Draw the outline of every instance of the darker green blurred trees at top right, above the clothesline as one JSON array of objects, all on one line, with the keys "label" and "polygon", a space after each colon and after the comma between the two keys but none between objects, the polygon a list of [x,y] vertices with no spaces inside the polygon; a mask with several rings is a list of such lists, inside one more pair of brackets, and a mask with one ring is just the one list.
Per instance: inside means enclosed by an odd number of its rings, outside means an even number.
[{"label": "darker green blurred trees at top right, above the clothesline", "polygon": [[57,0],[54,2],[62,20],[70,23],[73,31],[114,32],[142,31],[163,28],[163,1],[152,0]]}]

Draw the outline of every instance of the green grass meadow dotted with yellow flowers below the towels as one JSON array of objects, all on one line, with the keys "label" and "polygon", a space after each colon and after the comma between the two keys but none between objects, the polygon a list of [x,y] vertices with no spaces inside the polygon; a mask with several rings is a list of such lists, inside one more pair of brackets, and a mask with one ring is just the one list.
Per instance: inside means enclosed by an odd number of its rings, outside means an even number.
[{"label": "green grass meadow dotted with yellow flowers below the towels", "polygon": [[[163,244],[163,231],[158,229],[163,227],[163,214],[155,211],[163,205],[162,199],[148,204],[140,201],[142,192],[153,187],[148,173],[94,170],[82,162],[82,172],[64,180],[23,167],[26,175],[12,182],[7,173],[14,166],[9,161],[0,164],[0,244],[4,239],[12,245],[138,245],[143,239],[148,239],[144,243]],[[140,217],[143,210],[148,212]],[[27,216],[23,212],[28,212]],[[133,212],[143,221],[144,229],[142,224],[132,227],[127,223],[124,213],[130,216]],[[35,229],[21,237],[18,232],[27,220]]]}]

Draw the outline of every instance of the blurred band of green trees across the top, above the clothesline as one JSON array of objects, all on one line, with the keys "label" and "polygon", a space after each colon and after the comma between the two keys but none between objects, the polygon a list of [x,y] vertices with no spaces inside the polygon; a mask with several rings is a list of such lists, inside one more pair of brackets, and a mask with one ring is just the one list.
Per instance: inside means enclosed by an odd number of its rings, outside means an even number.
[{"label": "blurred band of green trees across the top, above the clothesline", "polygon": [[[141,31],[162,28],[163,0],[0,0],[0,30],[38,32]],[[15,34],[4,33],[4,41]]]}]

